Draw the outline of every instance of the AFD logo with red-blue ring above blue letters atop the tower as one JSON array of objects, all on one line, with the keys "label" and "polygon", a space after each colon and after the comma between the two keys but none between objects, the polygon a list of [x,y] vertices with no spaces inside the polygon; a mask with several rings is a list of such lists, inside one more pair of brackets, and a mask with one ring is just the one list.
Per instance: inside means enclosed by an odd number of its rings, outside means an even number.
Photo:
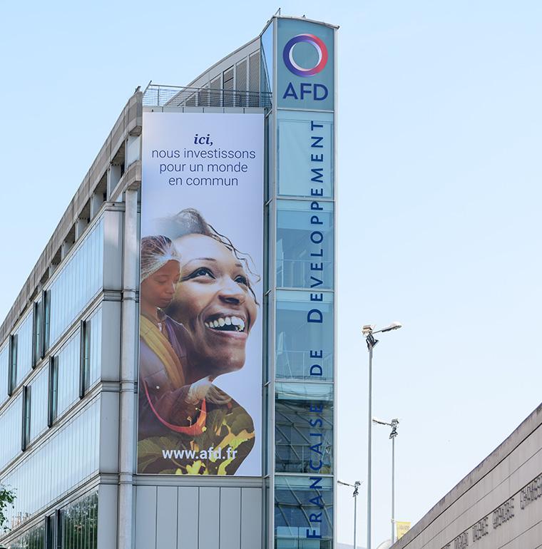
[{"label": "AFD logo with red-blue ring above blue letters atop the tower", "polygon": [[[318,60],[313,67],[302,67],[295,62],[294,48],[298,43],[309,43],[315,48],[318,54]],[[327,65],[327,47],[324,42],[314,34],[298,34],[287,41],[284,50],[282,51],[282,60],[287,69],[296,76],[314,76],[321,72]],[[315,101],[323,101],[328,95],[327,87],[320,83],[302,82],[299,88],[296,88],[292,82],[288,83],[282,99],[292,98],[294,100],[303,100],[312,98]]]}]

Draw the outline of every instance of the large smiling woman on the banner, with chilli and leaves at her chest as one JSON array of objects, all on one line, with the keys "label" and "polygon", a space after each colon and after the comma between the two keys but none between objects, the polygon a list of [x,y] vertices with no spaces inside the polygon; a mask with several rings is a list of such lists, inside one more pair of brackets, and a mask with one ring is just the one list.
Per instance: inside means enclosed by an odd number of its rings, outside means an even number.
[{"label": "large smiling woman on the banner, with chilli and leaves at her chest", "polygon": [[145,395],[152,414],[140,406],[138,471],[232,475],[254,446],[254,424],[212,381],[245,365],[257,318],[252,272],[247,258],[196,210],[163,220],[160,232],[172,237],[182,262],[165,317],[184,334],[184,385],[165,391],[156,405]]}]

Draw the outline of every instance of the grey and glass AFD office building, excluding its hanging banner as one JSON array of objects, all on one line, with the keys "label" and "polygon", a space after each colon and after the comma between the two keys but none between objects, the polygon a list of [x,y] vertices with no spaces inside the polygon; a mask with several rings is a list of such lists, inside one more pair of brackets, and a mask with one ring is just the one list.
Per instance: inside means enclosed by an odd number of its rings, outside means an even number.
[{"label": "grey and glass AFD office building, excluding its hanging banner", "polygon": [[[274,16],[188,86],[128,100],[0,327],[0,543],[334,547],[336,30]],[[142,140],[173,113],[262,118],[257,475],[138,473]]]}]

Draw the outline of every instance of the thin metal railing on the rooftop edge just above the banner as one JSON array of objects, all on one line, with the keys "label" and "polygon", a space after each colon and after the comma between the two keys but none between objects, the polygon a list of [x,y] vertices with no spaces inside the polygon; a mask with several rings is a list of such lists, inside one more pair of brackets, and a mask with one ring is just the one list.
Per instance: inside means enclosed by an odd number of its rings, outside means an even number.
[{"label": "thin metal railing on the rooftop edge just above the banner", "polygon": [[271,93],[222,88],[187,88],[150,83],[144,107],[260,107],[270,108]]}]

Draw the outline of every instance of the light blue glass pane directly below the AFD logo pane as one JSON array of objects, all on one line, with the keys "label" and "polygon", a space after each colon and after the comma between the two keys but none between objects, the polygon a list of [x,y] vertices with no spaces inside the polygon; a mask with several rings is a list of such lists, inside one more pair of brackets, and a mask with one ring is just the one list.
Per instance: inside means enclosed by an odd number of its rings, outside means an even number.
[{"label": "light blue glass pane directly below the AFD logo pane", "polygon": [[333,150],[332,113],[278,111],[277,193],[332,198]]}]

